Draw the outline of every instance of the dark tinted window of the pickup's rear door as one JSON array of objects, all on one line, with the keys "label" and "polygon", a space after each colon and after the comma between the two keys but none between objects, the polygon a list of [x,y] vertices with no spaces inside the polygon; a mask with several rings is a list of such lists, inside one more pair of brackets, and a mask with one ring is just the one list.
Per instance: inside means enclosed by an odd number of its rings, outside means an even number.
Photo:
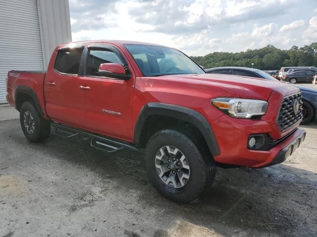
[{"label": "dark tinted window of the pickup's rear door", "polygon": [[55,71],[65,74],[78,74],[83,48],[66,48],[59,50],[54,64]]}]

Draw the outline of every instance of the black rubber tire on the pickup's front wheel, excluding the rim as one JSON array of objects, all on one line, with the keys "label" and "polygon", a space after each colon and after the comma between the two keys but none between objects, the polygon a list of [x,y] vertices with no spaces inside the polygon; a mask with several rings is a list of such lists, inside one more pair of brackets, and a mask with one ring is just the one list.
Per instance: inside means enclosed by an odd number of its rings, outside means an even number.
[{"label": "black rubber tire on the pickup's front wheel, excluding the rim", "polygon": [[[160,178],[158,174],[160,171],[157,172],[156,156],[159,149],[164,146],[177,148],[188,160],[190,176],[187,183],[180,188],[168,186]],[[199,140],[194,136],[184,135],[172,129],[161,130],[148,141],[145,156],[146,170],[151,183],[161,195],[173,201],[181,203],[194,201],[213,183],[216,172],[214,161],[210,153],[204,147],[200,147]]]}]

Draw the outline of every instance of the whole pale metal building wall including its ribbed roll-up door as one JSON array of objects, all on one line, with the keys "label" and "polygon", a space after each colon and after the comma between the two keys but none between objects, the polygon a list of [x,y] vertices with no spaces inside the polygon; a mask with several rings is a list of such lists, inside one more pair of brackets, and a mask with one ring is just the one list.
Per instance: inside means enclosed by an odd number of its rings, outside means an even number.
[{"label": "whole pale metal building wall including its ribbed roll-up door", "polygon": [[0,104],[8,71],[47,70],[54,48],[68,42],[68,0],[0,0]]}]

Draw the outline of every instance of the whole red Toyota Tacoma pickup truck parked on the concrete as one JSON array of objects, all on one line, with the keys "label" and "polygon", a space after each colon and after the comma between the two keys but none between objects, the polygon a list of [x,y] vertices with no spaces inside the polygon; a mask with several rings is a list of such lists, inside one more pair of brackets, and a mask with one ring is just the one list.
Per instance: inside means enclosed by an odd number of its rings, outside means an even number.
[{"label": "whole red Toyota Tacoma pickup truck parked on the concrete", "polygon": [[206,74],[182,52],[150,43],[60,45],[47,72],[8,72],[7,93],[31,142],[52,126],[108,153],[145,148],[152,184],[179,202],[211,186],[217,166],[283,162],[306,135],[295,86]]}]

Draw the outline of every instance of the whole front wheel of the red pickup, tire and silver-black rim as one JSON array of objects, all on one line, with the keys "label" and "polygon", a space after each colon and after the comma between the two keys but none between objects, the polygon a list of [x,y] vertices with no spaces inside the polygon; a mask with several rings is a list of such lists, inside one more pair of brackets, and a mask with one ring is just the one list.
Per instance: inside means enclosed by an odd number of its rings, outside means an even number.
[{"label": "whole front wheel of the red pickup, tire and silver-black rim", "polygon": [[190,202],[212,185],[215,165],[194,137],[165,129],[155,133],[146,148],[146,169],[158,192],[173,201]]}]

